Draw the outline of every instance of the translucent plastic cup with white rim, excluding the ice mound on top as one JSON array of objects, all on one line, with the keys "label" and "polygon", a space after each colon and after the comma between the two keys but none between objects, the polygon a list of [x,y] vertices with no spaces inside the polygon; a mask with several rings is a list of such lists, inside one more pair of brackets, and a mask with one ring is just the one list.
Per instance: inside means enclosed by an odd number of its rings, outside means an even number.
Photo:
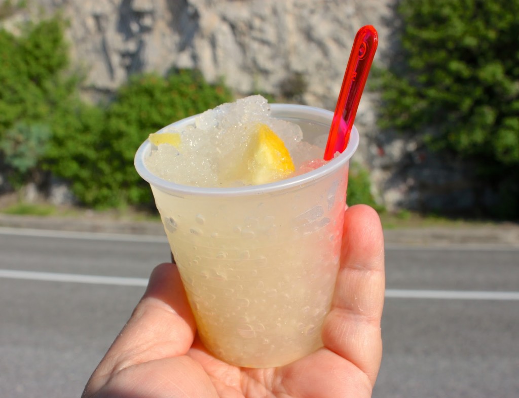
[{"label": "translucent plastic cup with white rim, excluding the ice mound on top", "polygon": [[[333,112],[272,104],[272,116],[301,125],[304,140],[327,135]],[[195,117],[173,123],[176,129]],[[247,367],[280,366],[322,346],[339,267],[349,159],[359,145],[312,172],[240,188],[168,182],[146,169],[199,336],[216,357]]]}]

